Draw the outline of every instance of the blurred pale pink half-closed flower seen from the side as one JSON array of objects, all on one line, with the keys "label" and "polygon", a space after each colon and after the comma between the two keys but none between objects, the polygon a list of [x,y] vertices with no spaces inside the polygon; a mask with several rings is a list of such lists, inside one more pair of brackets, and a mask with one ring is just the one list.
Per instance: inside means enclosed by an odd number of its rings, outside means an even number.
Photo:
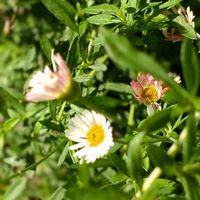
[{"label": "blurred pale pink half-closed flower seen from the side", "polygon": [[63,58],[52,51],[51,60],[53,71],[45,66],[44,72],[36,72],[29,81],[29,90],[25,94],[27,101],[39,102],[62,98],[71,90],[71,72]]}]

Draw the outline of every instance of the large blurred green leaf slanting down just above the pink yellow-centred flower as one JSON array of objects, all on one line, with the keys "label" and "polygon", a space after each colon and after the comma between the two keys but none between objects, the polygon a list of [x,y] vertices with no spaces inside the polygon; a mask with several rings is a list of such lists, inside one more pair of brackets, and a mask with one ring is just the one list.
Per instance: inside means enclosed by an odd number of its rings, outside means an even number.
[{"label": "large blurred green leaf slanting down just above the pink yellow-centred flower", "polygon": [[172,87],[180,101],[185,98],[190,101],[189,94],[167,75],[160,64],[146,53],[132,47],[126,38],[104,28],[100,29],[100,36],[108,55],[121,70],[150,73]]}]

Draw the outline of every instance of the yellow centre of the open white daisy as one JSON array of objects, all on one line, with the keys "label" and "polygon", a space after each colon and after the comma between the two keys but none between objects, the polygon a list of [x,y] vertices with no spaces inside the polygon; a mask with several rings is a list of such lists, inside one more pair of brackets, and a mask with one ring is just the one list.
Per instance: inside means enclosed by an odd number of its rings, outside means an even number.
[{"label": "yellow centre of the open white daisy", "polygon": [[93,125],[87,132],[87,140],[90,142],[90,146],[98,146],[103,142],[105,138],[105,132],[102,126],[98,124]]}]

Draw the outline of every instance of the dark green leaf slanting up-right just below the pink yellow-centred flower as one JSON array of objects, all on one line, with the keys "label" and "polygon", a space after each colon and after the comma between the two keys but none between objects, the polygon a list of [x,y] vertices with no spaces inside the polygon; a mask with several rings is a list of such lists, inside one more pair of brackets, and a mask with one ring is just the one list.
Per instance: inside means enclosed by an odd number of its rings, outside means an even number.
[{"label": "dark green leaf slanting up-right just below the pink yellow-centred flower", "polygon": [[171,120],[171,113],[174,109],[176,109],[176,107],[171,106],[165,110],[155,112],[155,114],[139,124],[138,130],[146,132],[159,130]]}]

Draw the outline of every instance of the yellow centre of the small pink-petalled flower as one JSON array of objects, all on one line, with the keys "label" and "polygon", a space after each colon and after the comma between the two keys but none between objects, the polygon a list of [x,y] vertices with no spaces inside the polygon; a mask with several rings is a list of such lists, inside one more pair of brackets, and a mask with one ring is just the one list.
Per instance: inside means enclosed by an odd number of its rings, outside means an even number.
[{"label": "yellow centre of the small pink-petalled flower", "polygon": [[147,103],[156,102],[158,98],[158,92],[156,91],[155,86],[150,85],[143,89],[142,98],[145,99]]}]

